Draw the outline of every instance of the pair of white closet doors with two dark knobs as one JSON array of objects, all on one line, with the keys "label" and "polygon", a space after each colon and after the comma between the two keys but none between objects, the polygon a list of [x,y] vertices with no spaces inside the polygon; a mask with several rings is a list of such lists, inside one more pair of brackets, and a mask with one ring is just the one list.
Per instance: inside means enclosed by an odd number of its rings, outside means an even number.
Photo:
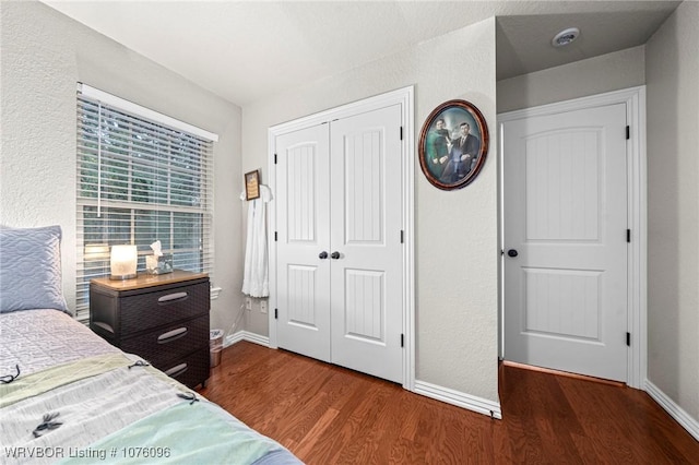
[{"label": "pair of white closet doors with two dark knobs", "polygon": [[401,106],[275,138],[276,336],[403,379]]}]

